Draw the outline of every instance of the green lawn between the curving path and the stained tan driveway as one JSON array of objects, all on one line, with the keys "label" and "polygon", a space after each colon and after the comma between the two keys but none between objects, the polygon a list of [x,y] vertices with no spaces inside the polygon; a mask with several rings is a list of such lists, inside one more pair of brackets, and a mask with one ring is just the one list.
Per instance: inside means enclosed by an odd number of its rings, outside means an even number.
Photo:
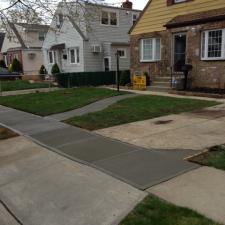
[{"label": "green lawn between the curving path and the stained tan driveway", "polygon": [[74,117],[66,122],[88,130],[96,130],[168,114],[189,112],[216,104],[218,103],[213,101],[152,95],[137,96],[117,102],[103,111]]}]

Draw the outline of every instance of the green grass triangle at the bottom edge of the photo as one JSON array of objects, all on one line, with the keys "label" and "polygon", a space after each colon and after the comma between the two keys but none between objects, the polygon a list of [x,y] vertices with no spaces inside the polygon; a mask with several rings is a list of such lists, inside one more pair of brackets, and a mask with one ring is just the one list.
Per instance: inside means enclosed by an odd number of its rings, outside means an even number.
[{"label": "green grass triangle at the bottom edge of the photo", "polygon": [[188,208],[149,195],[120,225],[219,225]]}]

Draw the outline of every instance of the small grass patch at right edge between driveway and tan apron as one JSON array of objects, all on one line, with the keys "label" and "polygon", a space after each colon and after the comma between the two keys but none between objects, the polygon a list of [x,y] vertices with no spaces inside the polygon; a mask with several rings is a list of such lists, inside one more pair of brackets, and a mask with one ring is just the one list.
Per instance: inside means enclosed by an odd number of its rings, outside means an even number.
[{"label": "small grass patch at right edge between driveway and tan apron", "polygon": [[213,147],[208,152],[193,157],[189,161],[225,170],[225,145]]}]

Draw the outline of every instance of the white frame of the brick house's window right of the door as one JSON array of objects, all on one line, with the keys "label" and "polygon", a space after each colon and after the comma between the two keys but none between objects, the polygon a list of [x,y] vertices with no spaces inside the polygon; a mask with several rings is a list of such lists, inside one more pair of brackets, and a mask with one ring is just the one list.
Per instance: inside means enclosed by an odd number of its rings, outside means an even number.
[{"label": "white frame of the brick house's window right of the door", "polygon": [[[221,57],[208,57],[209,32],[220,31],[220,30],[222,30]],[[204,43],[203,43],[203,35],[205,35]],[[203,48],[204,48],[204,50],[203,50]],[[201,34],[201,60],[205,60],[205,61],[225,60],[225,29],[213,29],[213,30],[206,30],[206,31],[202,32],[202,34]]]}]

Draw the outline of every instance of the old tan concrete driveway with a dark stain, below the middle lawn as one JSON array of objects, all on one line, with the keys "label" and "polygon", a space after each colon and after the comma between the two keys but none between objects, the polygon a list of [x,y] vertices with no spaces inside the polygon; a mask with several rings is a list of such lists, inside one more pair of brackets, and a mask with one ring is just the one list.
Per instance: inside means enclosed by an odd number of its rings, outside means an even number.
[{"label": "old tan concrete driveway with a dark stain, below the middle lawn", "polygon": [[96,133],[144,148],[201,151],[225,143],[225,103],[192,113],[106,128]]}]

